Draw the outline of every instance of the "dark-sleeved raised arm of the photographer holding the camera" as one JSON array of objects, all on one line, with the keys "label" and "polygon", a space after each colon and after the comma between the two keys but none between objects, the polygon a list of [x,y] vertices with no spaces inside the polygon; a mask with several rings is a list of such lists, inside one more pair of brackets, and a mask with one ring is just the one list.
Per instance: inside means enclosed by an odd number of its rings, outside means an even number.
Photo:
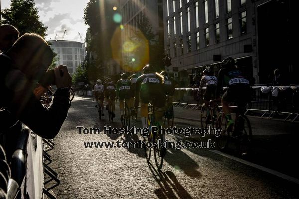
[{"label": "dark-sleeved raised arm of the photographer holding the camera", "polygon": [[[63,76],[60,76],[60,68],[63,69]],[[53,139],[58,134],[71,105],[71,77],[66,66],[55,68],[55,78],[58,89],[49,108],[42,105],[29,86],[15,92],[16,95],[7,106],[7,109],[34,133],[46,139]]]}]

